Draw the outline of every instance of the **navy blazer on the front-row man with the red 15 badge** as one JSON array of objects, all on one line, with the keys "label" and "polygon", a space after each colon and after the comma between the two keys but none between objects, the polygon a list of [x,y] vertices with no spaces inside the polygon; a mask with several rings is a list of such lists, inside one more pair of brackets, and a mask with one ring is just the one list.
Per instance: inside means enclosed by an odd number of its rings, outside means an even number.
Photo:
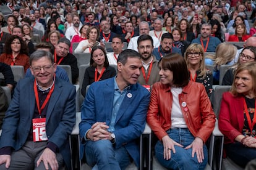
[{"label": "navy blazer on the front-row man with the red 15 badge", "polygon": [[[34,78],[21,79],[2,125],[0,148],[19,150],[25,144],[35,113]],[[67,169],[71,169],[69,135],[75,124],[75,86],[56,77],[46,114],[48,142],[59,148]]]}]

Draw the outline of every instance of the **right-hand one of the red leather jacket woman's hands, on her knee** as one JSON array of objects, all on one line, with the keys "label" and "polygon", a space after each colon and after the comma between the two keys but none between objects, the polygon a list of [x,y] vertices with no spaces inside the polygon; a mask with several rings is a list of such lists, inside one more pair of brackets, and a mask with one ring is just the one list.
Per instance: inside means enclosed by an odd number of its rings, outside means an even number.
[{"label": "right-hand one of the red leather jacket woman's hands, on her knee", "polygon": [[200,137],[195,137],[192,144],[188,145],[185,149],[192,148],[192,158],[197,154],[198,163],[202,163],[205,159],[203,155],[203,140]]}]

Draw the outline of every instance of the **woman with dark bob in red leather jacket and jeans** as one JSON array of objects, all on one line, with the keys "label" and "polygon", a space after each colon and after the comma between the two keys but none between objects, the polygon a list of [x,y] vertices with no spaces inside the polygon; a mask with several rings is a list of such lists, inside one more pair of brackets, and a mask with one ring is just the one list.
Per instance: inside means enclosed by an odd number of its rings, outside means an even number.
[{"label": "woman with dark bob in red leather jacket and jeans", "polygon": [[205,142],[215,126],[205,87],[189,81],[184,58],[168,54],[159,62],[160,82],[153,84],[147,123],[158,137],[155,155],[168,169],[204,169]]}]

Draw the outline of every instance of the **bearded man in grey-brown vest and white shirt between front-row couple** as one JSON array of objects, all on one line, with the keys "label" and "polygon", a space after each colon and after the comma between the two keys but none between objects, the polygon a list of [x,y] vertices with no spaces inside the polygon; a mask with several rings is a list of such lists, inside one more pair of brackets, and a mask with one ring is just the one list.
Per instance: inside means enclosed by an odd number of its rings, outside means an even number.
[{"label": "bearded man in grey-brown vest and white shirt between front-row couple", "polygon": [[142,68],[138,82],[150,91],[150,86],[160,80],[158,60],[152,54],[154,46],[150,35],[143,34],[138,38],[138,51],[142,60]]}]

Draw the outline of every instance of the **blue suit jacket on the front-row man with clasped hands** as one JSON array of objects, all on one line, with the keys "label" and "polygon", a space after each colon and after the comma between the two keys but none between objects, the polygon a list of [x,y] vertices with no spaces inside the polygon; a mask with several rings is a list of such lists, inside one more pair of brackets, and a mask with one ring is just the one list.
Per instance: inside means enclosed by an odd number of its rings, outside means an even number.
[{"label": "blue suit jacket on the front-row man with clasped hands", "polygon": [[[93,83],[88,89],[81,110],[82,121],[79,124],[81,137],[84,137],[96,122],[106,122],[109,125],[113,110],[114,78]],[[127,94],[131,96],[128,97]],[[116,116],[115,147],[126,147],[135,164],[139,166],[139,145],[136,144],[135,139],[140,137],[145,128],[150,94],[138,83],[131,85],[127,94]],[[80,152],[83,155],[84,145],[81,145]]]}]

